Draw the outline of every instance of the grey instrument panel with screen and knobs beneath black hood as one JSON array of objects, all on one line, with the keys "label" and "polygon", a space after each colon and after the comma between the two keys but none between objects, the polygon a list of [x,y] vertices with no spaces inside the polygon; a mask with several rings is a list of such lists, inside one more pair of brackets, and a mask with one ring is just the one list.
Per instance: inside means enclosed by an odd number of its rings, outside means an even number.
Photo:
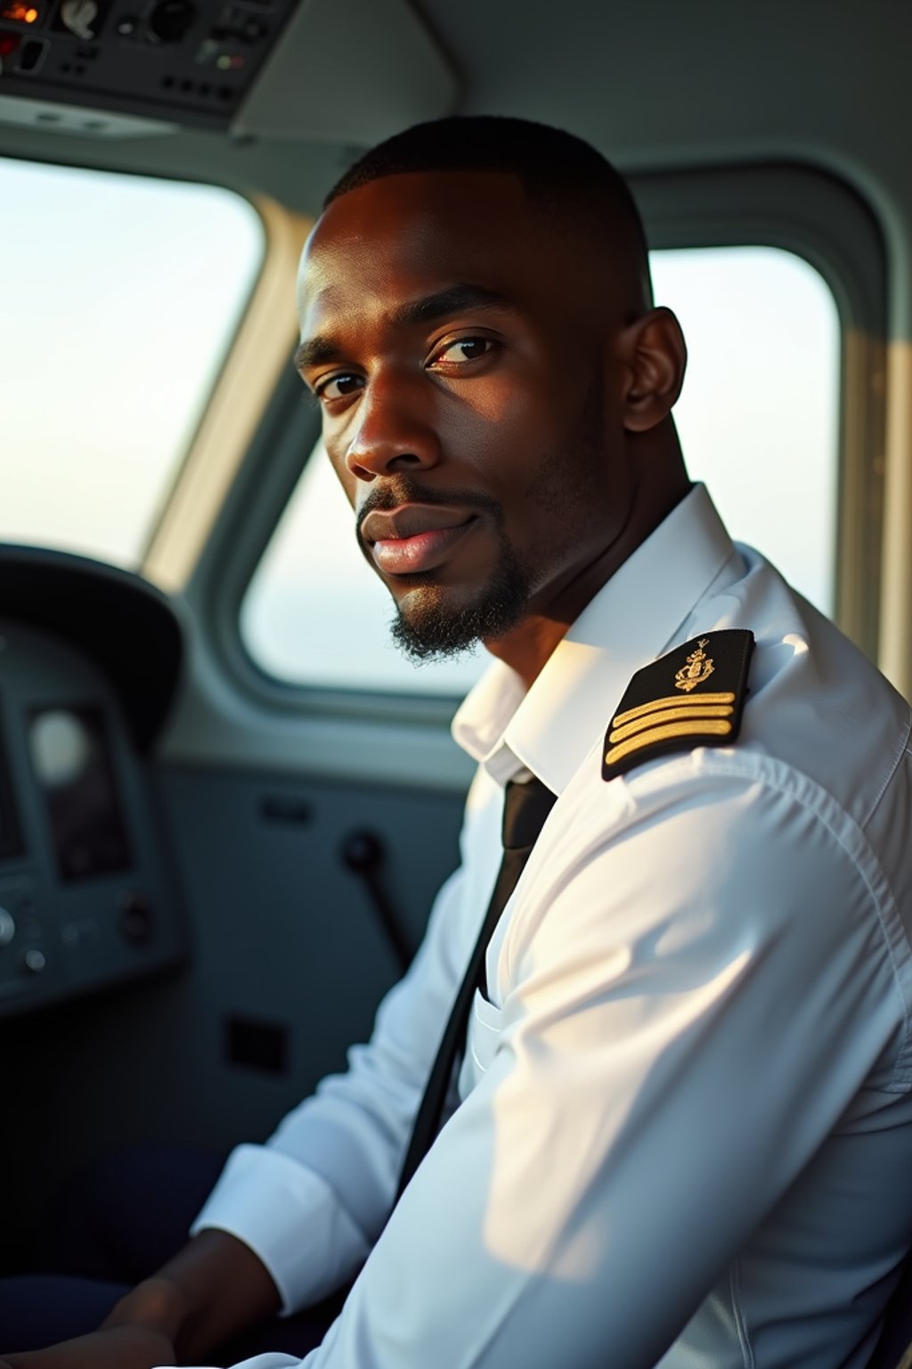
[{"label": "grey instrument panel with screen and knobs beneath black hood", "polygon": [[116,682],[83,645],[0,613],[0,1016],[157,972],[185,949]]}]

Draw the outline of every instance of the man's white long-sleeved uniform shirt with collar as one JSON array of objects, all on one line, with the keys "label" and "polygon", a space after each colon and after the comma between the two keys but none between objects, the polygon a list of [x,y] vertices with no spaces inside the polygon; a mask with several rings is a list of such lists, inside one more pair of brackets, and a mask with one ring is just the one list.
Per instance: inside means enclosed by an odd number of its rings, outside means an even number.
[{"label": "man's white long-sleeved uniform shirt with collar", "polygon": [[[729,627],[756,637],[737,742],[606,783],[634,671]],[[412,969],[194,1229],[256,1250],[287,1312],[366,1259],[306,1369],[860,1369],[912,1236],[907,704],[697,486],[528,694],[495,663],[454,735],[480,763],[462,867]],[[521,769],[558,801],[461,1106],[384,1228]]]}]

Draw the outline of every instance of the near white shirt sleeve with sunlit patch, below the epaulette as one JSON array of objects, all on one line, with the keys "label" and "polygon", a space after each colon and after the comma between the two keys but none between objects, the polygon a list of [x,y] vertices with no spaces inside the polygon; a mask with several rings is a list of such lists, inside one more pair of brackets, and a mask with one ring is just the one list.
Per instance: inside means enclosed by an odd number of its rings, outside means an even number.
[{"label": "near white shirt sleeve with sunlit patch, below the epaulette", "polygon": [[649,1369],[890,1075],[863,834],[800,786],[652,771],[536,847],[487,1073],[306,1369]]}]

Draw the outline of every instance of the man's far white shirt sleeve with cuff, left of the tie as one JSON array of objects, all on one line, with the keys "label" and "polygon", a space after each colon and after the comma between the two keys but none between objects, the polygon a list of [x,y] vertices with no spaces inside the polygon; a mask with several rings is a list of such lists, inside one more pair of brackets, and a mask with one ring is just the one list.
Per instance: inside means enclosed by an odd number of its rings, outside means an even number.
[{"label": "man's far white shirt sleeve with cuff, left of the tie", "polygon": [[264,1146],[228,1157],[191,1235],[216,1227],[269,1270],[284,1314],[357,1269],[387,1218],[417,1106],[465,954],[464,873],[440,890],[406,976],[386,995],[369,1045],[324,1079]]}]

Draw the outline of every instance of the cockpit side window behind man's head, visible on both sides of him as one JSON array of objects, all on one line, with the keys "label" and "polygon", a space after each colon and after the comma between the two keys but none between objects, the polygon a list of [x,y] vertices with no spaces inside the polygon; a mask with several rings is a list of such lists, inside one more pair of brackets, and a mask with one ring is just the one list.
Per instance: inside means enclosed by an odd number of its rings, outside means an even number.
[{"label": "cockpit side window behind man's head, visible on both sides of him", "polygon": [[[675,422],[690,475],[737,541],[830,613],[841,340],[829,286],[778,248],[659,251],[652,270],[656,301],[678,314],[689,346]],[[243,643],[283,683],[465,693],[484,653],[412,665],[388,639],[391,615],[317,448],[247,590]]]}]

